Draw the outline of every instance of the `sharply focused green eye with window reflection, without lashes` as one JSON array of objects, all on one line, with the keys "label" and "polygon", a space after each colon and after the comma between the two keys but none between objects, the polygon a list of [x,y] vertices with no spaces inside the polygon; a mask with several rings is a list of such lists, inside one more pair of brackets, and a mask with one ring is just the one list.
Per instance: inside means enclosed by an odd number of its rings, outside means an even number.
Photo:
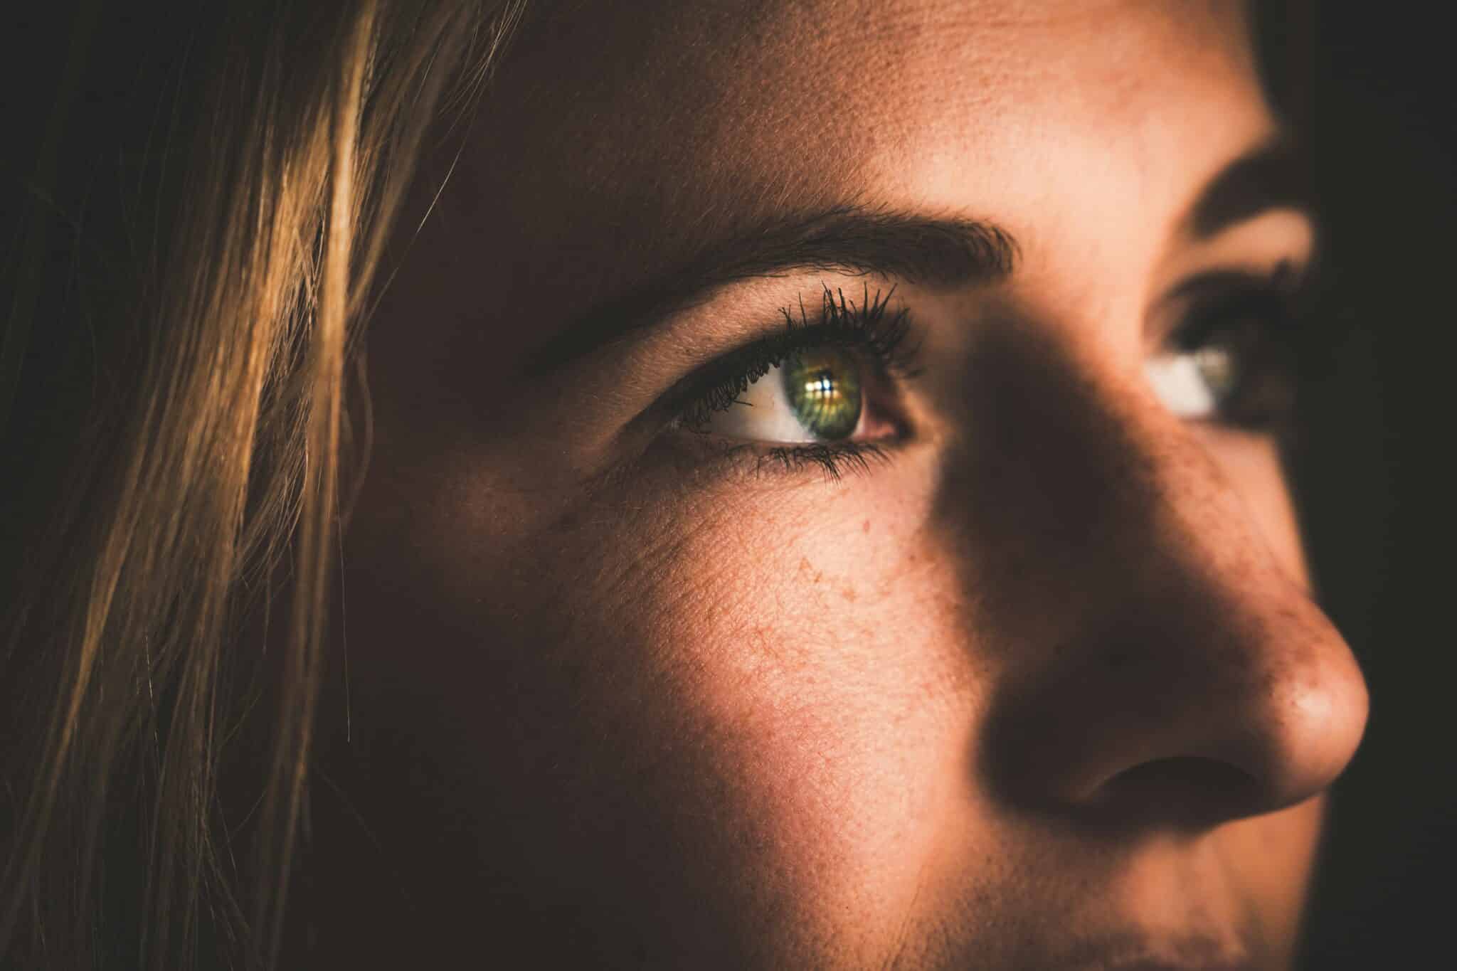
[{"label": "sharply focused green eye with window reflection, without lashes", "polygon": [[841,443],[864,438],[868,413],[865,368],[844,348],[812,348],[772,364],[727,408],[695,431],[768,444]]}]

